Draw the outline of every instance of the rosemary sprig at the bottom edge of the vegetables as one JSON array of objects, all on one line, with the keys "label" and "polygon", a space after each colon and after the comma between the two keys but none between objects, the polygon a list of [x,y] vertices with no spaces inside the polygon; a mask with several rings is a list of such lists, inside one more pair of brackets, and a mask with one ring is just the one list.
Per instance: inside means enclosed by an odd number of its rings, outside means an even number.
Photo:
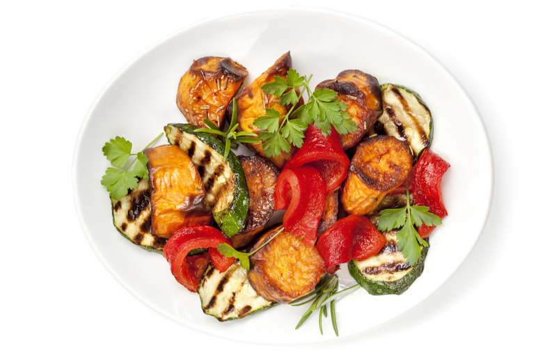
[{"label": "rosemary sprig at the bottom edge of the vegetables", "polygon": [[312,292],[304,295],[304,297],[291,301],[289,304],[292,306],[301,306],[312,302],[306,313],[301,316],[301,319],[298,322],[296,329],[299,329],[299,327],[301,327],[301,325],[304,324],[304,322],[306,322],[306,320],[308,320],[308,318],[313,313],[315,313],[315,311],[318,310],[320,334],[323,334],[322,317],[328,317],[328,309],[326,305],[330,304],[330,316],[332,320],[333,331],[336,333],[336,336],[339,336],[338,322],[336,320],[336,299],[348,295],[355,290],[358,290],[360,288],[360,285],[356,284],[352,287],[340,290],[339,292],[338,288],[338,276],[336,276],[335,274],[331,275],[326,273],[324,274],[324,276],[322,276],[322,279],[320,279],[319,283],[317,283],[315,289]]}]

